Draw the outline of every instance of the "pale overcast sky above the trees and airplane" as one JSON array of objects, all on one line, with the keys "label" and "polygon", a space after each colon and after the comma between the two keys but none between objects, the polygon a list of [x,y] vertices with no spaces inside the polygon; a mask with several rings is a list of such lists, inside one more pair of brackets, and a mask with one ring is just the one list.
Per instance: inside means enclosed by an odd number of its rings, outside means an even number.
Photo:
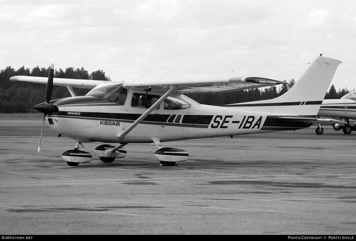
[{"label": "pale overcast sky above the trees and airplane", "polygon": [[[30,2],[30,3],[28,3]],[[0,0],[0,69],[103,69],[112,80],[298,79],[320,53],[356,89],[356,1]],[[232,71],[234,70],[234,71]]]}]

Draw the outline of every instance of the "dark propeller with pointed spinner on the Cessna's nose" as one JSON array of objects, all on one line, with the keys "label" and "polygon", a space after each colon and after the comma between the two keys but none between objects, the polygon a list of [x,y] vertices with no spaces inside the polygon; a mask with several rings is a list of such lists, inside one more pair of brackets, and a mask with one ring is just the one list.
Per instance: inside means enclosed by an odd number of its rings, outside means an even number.
[{"label": "dark propeller with pointed spinner on the Cessna's nose", "polygon": [[52,95],[53,76],[54,76],[54,64],[51,64],[51,67],[49,68],[49,74],[47,80],[45,102],[33,106],[33,109],[41,111],[43,113],[43,123],[42,123],[42,130],[40,136],[40,143],[38,144],[38,152],[40,152],[40,148],[41,148],[42,132],[43,132],[43,126],[45,125],[46,116],[51,115],[53,112],[58,111],[57,106],[54,106],[52,103],[49,103],[49,100],[51,99],[51,95]]}]

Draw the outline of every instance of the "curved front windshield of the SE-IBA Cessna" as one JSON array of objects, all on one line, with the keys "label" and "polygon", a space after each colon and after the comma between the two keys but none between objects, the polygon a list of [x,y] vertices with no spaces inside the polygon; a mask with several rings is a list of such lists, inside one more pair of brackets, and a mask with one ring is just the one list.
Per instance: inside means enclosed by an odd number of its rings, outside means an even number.
[{"label": "curved front windshield of the SE-IBA Cessna", "polygon": [[127,96],[127,89],[122,87],[122,84],[110,83],[99,85],[90,90],[86,95],[101,98],[112,103],[117,103],[117,105],[124,105]]}]

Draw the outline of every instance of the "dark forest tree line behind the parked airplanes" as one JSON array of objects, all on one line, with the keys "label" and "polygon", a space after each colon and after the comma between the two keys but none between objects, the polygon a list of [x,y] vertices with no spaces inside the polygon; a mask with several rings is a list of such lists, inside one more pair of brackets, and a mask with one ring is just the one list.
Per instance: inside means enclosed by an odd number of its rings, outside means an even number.
[{"label": "dark forest tree line behind the parked airplanes", "polygon": [[[33,106],[40,104],[45,99],[46,85],[24,82],[12,82],[10,77],[15,75],[27,75],[35,77],[48,77],[48,68],[39,68],[38,66],[32,70],[22,66],[18,70],[11,66],[1,69],[0,72],[0,113],[26,113],[36,112],[32,109]],[[82,68],[74,69],[73,67],[54,71],[54,78],[67,79],[91,79],[110,81],[109,76],[105,75],[103,70],[89,72]],[[284,80],[287,82],[286,80]],[[250,90],[239,90],[231,92],[215,92],[215,93],[187,93],[189,98],[197,101],[200,104],[206,105],[225,105],[233,103],[242,103],[256,100],[273,99],[286,93],[294,85],[294,79],[289,80],[288,84],[279,87],[271,86],[268,88],[255,88]],[[89,89],[74,88],[77,95],[85,95]],[[331,85],[330,90],[326,93],[324,99],[340,99],[350,91],[339,89],[336,91],[334,85]],[[71,96],[68,89],[64,86],[53,86],[51,99],[60,99]]]}]

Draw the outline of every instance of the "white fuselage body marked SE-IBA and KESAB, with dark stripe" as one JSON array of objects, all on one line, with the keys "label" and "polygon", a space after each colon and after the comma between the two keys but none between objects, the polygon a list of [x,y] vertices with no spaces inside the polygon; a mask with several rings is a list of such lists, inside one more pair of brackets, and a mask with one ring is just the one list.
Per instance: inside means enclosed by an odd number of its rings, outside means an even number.
[{"label": "white fuselage body marked SE-IBA and KESAB, with dark stripe", "polygon": [[[165,110],[163,103],[153,110],[125,138],[118,139],[147,109],[131,106],[129,90],[124,105],[98,103],[90,96],[78,96],[51,101],[58,106],[56,114],[46,117],[49,126],[57,133],[80,142],[99,141],[109,143],[151,143],[152,138],[161,142],[194,138],[234,136],[271,131],[297,130],[309,127],[309,123],[277,121],[276,112],[248,110],[202,105],[176,93],[171,96],[184,100],[190,108]],[[145,92],[141,91],[144,95]],[[160,95],[159,93],[150,93]],[[85,101],[88,99],[88,101]],[[83,102],[84,101],[84,102]],[[283,115],[283,113],[281,113]]]}]

